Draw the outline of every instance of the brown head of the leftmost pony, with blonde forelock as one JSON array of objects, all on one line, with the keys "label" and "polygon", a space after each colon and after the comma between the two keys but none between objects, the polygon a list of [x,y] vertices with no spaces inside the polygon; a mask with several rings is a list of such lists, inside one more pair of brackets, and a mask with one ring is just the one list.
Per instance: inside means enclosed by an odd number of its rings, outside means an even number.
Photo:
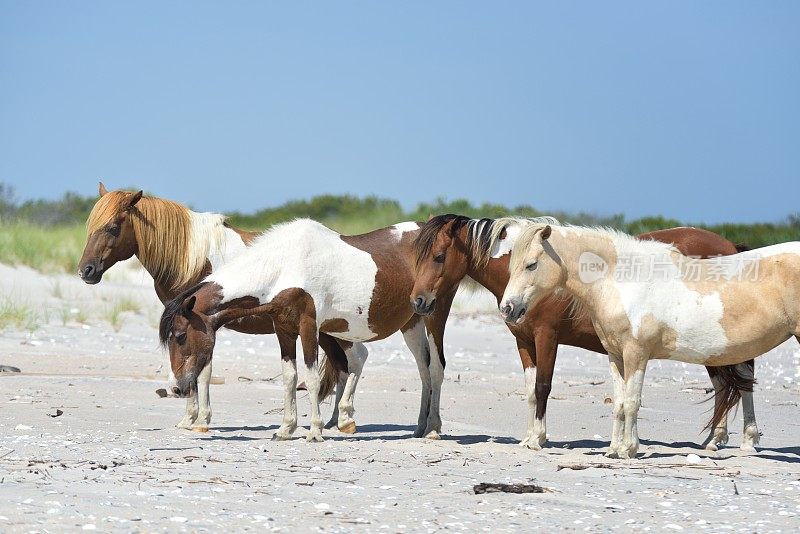
[{"label": "brown head of the leftmost pony, with blonde forelock", "polygon": [[142,191],[109,192],[100,182],[99,192],[100,200],[86,221],[86,246],[78,264],[78,276],[87,284],[100,282],[109,267],[136,253],[130,214],[142,199]]}]

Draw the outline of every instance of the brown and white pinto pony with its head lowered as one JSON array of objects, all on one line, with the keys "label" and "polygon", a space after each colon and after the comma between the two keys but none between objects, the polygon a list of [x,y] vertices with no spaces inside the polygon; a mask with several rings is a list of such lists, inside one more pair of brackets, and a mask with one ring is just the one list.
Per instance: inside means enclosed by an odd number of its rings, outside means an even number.
[{"label": "brown and white pinto pony with its head lowered", "polygon": [[[299,219],[259,236],[246,251],[167,303],[159,334],[169,348],[178,393],[190,394],[195,389],[197,377],[211,362],[218,328],[248,316],[271,318],[281,347],[285,388],[283,424],[275,438],[289,439],[297,428],[299,337],[311,401],[307,439],[321,441],[319,402],[336,382],[336,374],[327,366],[320,370],[317,336],[327,333],[356,343],[383,339],[400,330],[423,379],[415,436],[438,437],[440,390],[432,389],[426,376],[430,372],[441,384],[442,338],[453,295],[443,295],[439,311],[424,322],[411,310],[408,295],[414,283],[413,242],[418,227],[402,223],[344,236],[315,221]],[[348,413],[346,403],[352,401],[357,379],[351,368],[340,413]]]}]

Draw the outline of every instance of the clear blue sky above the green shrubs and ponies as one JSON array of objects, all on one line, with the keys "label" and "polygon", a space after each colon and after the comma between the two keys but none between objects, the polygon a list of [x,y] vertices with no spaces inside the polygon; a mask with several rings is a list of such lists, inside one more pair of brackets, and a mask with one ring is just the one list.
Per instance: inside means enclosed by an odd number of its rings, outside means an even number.
[{"label": "clear blue sky above the green shrubs and ponies", "polygon": [[800,212],[800,2],[0,0],[0,181]]}]

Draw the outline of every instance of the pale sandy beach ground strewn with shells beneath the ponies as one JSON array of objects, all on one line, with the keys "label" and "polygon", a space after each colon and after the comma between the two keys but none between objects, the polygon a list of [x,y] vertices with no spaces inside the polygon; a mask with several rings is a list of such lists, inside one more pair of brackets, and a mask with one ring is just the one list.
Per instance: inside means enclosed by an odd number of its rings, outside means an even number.
[{"label": "pale sandy beach ground strewn with shells beneath the ponies", "polygon": [[[731,422],[729,448],[702,450],[705,371],[659,362],[648,370],[640,412],[643,454],[606,461],[606,359],[569,347],[561,349],[549,405],[548,447],[522,449],[526,401],[513,339],[494,313],[475,312],[480,300],[462,302],[448,325],[444,439],[410,437],[419,383],[393,336],[369,345],[358,434],[325,431],[324,443],[309,444],[301,428],[296,440],[272,442],[282,406],[275,337],[221,331],[214,375],[225,383],[212,386],[212,429],[179,431],[183,401],[154,393],[167,376],[154,328],[160,305],[140,270],[109,274],[87,287],[0,266],[4,301],[37,316],[0,335],[0,364],[23,371],[0,374],[0,531],[800,526],[794,342],[757,361],[764,436],[755,455],[738,449],[741,416]],[[117,331],[109,321],[122,300],[137,309],[119,314]],[[303,394],[299,407],[307,424]],[[549,491],[473,492],[481,482],[531,481]]]}]

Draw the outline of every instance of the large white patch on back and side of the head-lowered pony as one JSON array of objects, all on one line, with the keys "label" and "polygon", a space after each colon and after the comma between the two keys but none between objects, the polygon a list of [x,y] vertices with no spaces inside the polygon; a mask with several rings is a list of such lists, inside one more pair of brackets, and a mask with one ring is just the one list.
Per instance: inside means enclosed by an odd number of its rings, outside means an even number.
[{"label": "large white patch on back and side of the head-lowered pony", "polygon": [[253,296],[261,303],[281,291],[301,288],[314,299],[317,324],[344,319],[348,332],[336,337],[368,341],[368,313],[378,266],[372,256],[310,219],[279,224],[206,278],[222,287],[222,302]]}]

